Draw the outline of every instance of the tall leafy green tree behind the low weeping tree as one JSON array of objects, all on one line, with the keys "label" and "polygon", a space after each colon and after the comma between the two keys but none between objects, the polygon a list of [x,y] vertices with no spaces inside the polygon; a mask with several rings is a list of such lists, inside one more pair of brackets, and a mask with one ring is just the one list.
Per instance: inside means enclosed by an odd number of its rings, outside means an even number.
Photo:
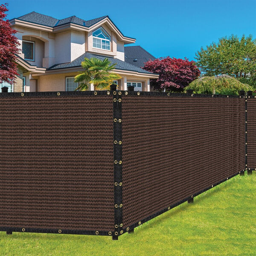
[{"label": "tall leafy green tree behind the low weeping tree", "polygon": [[220,38],[196,53],[197,66],[205,76],[227,74],[256,85],[256,39],[252,35]]}]

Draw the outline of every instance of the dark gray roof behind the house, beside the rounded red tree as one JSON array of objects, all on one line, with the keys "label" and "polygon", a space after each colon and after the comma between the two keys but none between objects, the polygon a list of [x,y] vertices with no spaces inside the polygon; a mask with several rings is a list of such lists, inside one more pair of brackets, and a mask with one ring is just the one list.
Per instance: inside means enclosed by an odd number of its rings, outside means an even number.
[{"label": "dark gray roof behind the house, beside the rounded red tree", "polygon": [[125,62],[137,67],[144,67],[144,63],[156,58],[147,52],[141,46],[126,46],[125,47]]}]

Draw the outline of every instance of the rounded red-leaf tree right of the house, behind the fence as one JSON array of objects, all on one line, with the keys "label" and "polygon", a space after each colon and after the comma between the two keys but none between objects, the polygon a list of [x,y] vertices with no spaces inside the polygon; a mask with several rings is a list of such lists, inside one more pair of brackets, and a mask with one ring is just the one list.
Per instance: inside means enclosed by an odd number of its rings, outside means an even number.
[{"label": "rounded red-leaf tree right of the house, behind the fence", "polygon": [[159,74],[159,79],[151,79],[150,82],[156,90],[180,92],[200,76],[195,61],[189,61],[187,58],[157,58],[154,61],[147,61],[144,69]]}]

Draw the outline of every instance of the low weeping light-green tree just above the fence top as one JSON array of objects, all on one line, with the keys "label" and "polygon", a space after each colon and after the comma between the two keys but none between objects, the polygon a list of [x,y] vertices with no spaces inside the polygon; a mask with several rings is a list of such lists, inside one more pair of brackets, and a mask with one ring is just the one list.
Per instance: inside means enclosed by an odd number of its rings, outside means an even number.
[{"label": "low weeping light-green tree just above the fence top", "polygon": [[239,95],[239,90],[253,90],[248,84],[242,84],[236,78],[221,76],[203,76],[192,81],[184,90],[192,89],[194,93]]}]

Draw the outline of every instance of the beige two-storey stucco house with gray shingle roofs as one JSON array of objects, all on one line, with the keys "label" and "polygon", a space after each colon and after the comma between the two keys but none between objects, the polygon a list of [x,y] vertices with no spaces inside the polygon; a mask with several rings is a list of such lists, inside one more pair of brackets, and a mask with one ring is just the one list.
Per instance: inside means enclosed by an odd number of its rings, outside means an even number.
[{"label": "beige two-storey stucco house with gray shingle roofs", "polygon": [[[10,20],[20,42],[17,55],[19,76],[15,85],[6,83],[10,92],[72,91],[74,76],[83,71],[84,57],[108,58],[116,63],[113,72],[122,79],[113,81],[119,90],[150,90],[150,73],[125,61],[125,45],[136,41],[127,37],[108,16],[82,20],[76,16],[58,20],[31,12]],[[90,90],[93,90],[93,84]]]}]

